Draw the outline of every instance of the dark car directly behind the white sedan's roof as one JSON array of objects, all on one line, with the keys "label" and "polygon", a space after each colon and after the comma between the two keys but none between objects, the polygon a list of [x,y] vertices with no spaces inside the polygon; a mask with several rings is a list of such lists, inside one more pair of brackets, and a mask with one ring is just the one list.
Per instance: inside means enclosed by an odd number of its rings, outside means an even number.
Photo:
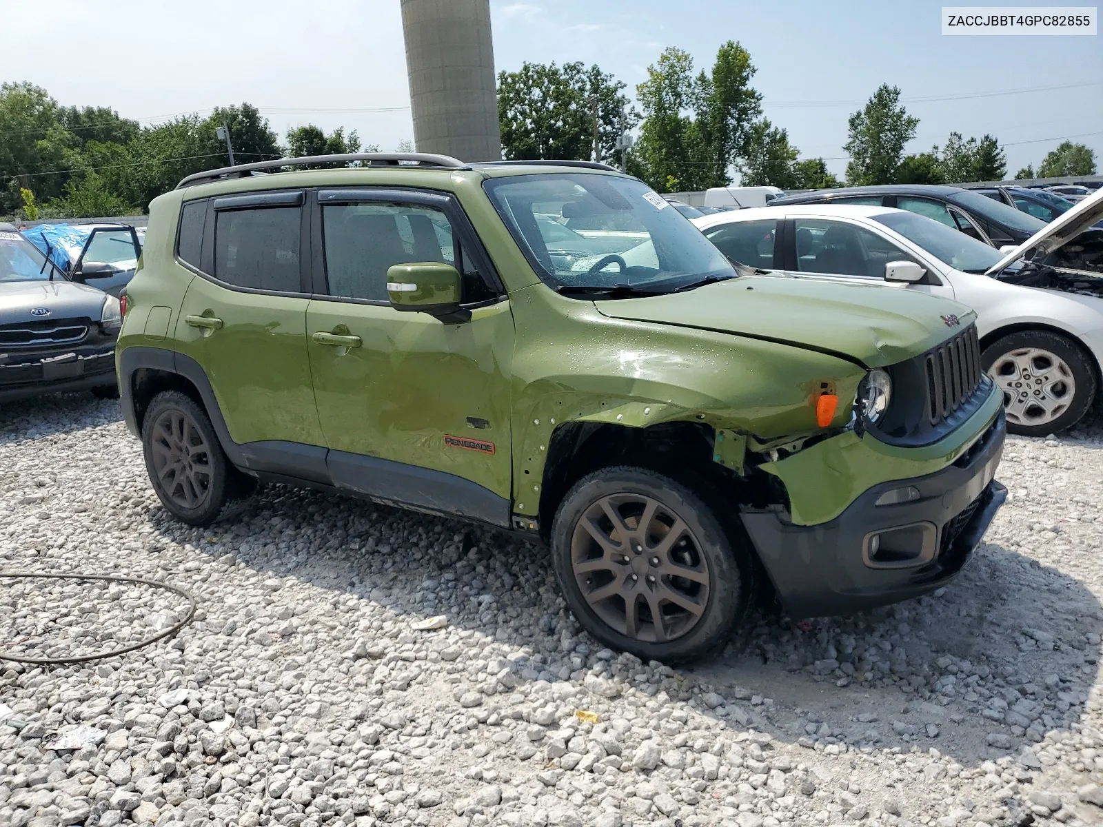
[{"label": "dark car directly behind the white sedan's roof", "polygon": [[993,247],[1017,247],[1047,222],[961,186],[885,184],[786,195],[770,202],[784,204],[865,204],[925,215]]}]

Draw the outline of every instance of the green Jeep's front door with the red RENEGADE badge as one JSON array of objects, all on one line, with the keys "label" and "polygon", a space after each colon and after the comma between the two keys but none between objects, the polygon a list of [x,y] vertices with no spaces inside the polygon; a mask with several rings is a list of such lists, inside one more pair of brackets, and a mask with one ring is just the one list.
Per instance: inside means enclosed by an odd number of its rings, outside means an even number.
[{"label": "green Jeep's front door with the red RENEGADE badge", "polygon": [[[314,396],[335,484],[505,525],[513,314],[459,204],[414,190],[321,190],[307,311]],[[465,322],[396,310],[387,269],[453,265]]]}]

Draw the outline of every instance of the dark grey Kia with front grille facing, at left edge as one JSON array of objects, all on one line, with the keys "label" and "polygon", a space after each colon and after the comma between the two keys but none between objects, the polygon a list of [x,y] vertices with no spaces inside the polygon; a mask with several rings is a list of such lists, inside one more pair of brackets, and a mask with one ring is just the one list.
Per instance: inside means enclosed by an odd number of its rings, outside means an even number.
[{"label": "dark grey Kia with front grille facing, at left edge", "polygon": [[90,389],[116,395],[119,300],[69,280],[11,224],[0,224],[0,402]]}]

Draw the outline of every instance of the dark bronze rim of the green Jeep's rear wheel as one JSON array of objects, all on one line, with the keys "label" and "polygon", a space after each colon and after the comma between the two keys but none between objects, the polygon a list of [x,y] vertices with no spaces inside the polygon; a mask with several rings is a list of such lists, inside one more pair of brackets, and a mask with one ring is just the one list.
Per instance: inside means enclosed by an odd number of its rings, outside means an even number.
[{"label": "dark bronze rim of the green Jeep's rear wheel", "polygon": [[174,408],[162,412],[153,423],[150,448],[165,495],[182,508],[202,506],[211,496],[211,449],[192,418]]}]

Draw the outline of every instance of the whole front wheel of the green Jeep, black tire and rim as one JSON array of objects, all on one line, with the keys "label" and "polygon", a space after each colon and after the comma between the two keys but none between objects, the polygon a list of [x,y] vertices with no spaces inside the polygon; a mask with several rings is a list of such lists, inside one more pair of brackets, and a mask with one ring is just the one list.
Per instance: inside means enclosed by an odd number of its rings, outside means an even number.
[{"label": "whole front wheel of the green Jeep, black tire and rim", "polygon": [[[595,471],[567,492],[552,524],[552,559],[567,604],[596,638],[644,662],[688,660],[726,643],[749,603],[753,567],[735,536],[681,483],[621,465]],[[641,538],[642,552],[633,548]],[[663,617],[657,626],[656,606]]]}]

